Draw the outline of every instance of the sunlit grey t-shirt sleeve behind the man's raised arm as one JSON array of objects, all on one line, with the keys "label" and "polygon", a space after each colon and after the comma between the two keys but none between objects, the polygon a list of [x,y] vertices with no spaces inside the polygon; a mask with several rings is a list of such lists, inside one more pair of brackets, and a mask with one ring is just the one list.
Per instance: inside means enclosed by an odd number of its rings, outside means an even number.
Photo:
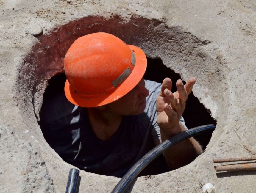
[{"label": "sunlit grey t-shirt sleeve behind the man's raised arm", "polygon": [[[153,84],[154,82],[152,81],[151,84]],[[161,140],[161,134],[160,134],[160,128],[157,124],[157,112],[156,112],[156,101],[157,101],[157,97],[161,91],[161,84],[157,83],[158,87],[155,87],[155,90],[149,89],[149,92],[153,92],[152,96],[150,97],[151,101],[151,105],[152,105],[152,130],[151,130],[151,136],[154,140],[154,142],[157,142],[159,140]],[[150,87],[150,86],[149,86]],[[185,130],[188,130],[188,128],[185,125],[185,120],[183,117],[181,117],[180,122],[182,123],[183,127],[185,128]]]}]

